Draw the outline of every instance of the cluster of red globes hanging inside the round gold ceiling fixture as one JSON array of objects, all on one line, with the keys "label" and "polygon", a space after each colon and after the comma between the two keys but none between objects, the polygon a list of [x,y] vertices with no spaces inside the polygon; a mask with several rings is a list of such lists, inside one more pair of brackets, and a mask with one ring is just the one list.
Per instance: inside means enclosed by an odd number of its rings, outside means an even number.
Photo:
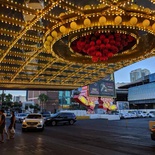
[{"label": "cluster of red globes hanging inside the round gold ceiling fixture", "polygon": [[93,62],[106,61],[116,53],[131,48],[136,39],[121,33],[94,33],[80,37],[71,43],[74,52],[92,57]]}]

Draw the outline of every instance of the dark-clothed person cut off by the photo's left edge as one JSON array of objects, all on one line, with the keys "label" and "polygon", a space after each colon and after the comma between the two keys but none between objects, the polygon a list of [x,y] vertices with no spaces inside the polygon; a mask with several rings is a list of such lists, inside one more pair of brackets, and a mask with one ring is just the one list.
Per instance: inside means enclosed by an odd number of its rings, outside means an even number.
[{"label": "dark-clothed person cut off by the photo's left edge", "polygon": [[4,110],[0,110],[1,121],[0,121],[0,134],[1,134],[1,143],[4,143],[4,128],[5,128],[5,115]]}]

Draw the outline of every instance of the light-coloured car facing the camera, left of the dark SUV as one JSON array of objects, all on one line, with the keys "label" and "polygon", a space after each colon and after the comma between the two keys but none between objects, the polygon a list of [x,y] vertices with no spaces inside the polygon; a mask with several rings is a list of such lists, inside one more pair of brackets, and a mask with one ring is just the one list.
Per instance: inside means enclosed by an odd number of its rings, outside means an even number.
[{"label": "light-coloured car facing the camera, left of the dark SUV", "polygon": [[44,118],[42,114],[31,113],[22,122],[22,131],[28,129],[44,130]]}]

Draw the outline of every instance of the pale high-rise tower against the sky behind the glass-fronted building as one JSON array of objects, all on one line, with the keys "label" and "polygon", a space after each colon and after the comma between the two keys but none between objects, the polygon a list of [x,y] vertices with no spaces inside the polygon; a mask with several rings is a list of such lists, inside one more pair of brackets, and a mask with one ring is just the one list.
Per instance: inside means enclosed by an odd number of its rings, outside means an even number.
[{"label": "pale high-rise tower against the sky behind the glass-fronted building", "polygon": [[138,69],[132,70],[130,72],[130,81],[135,82],[149,74],[150,74],[150,71],[148,69],[138,68]]}]

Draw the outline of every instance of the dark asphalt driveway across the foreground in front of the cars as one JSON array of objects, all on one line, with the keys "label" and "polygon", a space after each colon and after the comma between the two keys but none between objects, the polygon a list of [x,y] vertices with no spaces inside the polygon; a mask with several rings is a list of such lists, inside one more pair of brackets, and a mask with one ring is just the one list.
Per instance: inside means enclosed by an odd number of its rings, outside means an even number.
[{"label": "dark asphalt driveway across the foreground in front of the cars", "polygon": [[15,139],[0,144],[0,155],[155,155],[149,120],[80,120],[24,133],[17,123]]}]

